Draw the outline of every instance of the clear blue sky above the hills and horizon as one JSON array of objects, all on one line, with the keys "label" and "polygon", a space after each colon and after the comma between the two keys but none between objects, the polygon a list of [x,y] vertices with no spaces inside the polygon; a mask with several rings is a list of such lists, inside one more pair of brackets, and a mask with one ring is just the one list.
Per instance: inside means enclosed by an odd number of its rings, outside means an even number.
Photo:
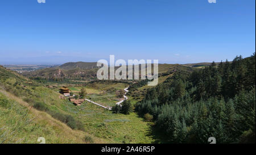
[{"label": "clear blue sky above the hills and horizon", "polygon": [[255,0],[6,0],[0,64],[158,59],[185,64],[255,52]]}]

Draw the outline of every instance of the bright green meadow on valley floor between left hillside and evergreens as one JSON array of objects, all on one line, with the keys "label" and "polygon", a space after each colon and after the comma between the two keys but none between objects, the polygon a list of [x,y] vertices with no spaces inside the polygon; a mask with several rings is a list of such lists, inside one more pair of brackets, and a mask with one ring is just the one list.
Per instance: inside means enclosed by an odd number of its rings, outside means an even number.
[{"label": "bright green meadow on valley floor between left hillside and evergreens", "polygon": [[150,125],[134,112],[130,115],[113,114],[92,103],[79,107],[75,114],[85,124],[85,131],[110,143],[153,143]]}]

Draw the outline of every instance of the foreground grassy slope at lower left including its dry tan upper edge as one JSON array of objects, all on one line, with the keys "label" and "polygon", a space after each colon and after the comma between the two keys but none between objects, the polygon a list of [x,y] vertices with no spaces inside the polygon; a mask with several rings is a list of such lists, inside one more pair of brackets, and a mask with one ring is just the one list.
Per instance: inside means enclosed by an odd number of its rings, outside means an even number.
[{"label": "foreground grassy slope at lower left including its dry tan upper edge", "polygon": [[[0,144],[38,143],[44,137],[46,143],[105,143],[88,133],[69,128],[46,112],[32,108],[14,95],[0,90]],[[86,141],[92,137],[93,141]]]}]

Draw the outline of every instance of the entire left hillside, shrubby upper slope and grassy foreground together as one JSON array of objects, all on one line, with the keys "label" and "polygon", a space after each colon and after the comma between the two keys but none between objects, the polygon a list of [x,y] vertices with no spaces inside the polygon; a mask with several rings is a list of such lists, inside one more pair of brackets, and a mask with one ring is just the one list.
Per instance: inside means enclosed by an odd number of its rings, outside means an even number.
[{"label": "entire left hillside, shrubby upper slope and grassy foreground together", "polygon": [[0,143],[105,143],[84,132],[64,103],[56,91],[0,66]]}]

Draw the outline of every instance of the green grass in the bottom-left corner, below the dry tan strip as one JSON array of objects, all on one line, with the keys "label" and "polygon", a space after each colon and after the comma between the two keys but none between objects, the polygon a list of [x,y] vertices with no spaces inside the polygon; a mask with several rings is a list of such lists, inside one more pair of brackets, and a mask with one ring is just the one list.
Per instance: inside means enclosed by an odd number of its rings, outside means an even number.
[{"label": "green grass in the bottom-left corner, below the dry tan strip", "polygon": [[38,137],[45,137],[46,143],[76,143],[65,139],[61,129],[38,120],[30,109],[10,100],[0,93],[0,144],[38,143]]}]

